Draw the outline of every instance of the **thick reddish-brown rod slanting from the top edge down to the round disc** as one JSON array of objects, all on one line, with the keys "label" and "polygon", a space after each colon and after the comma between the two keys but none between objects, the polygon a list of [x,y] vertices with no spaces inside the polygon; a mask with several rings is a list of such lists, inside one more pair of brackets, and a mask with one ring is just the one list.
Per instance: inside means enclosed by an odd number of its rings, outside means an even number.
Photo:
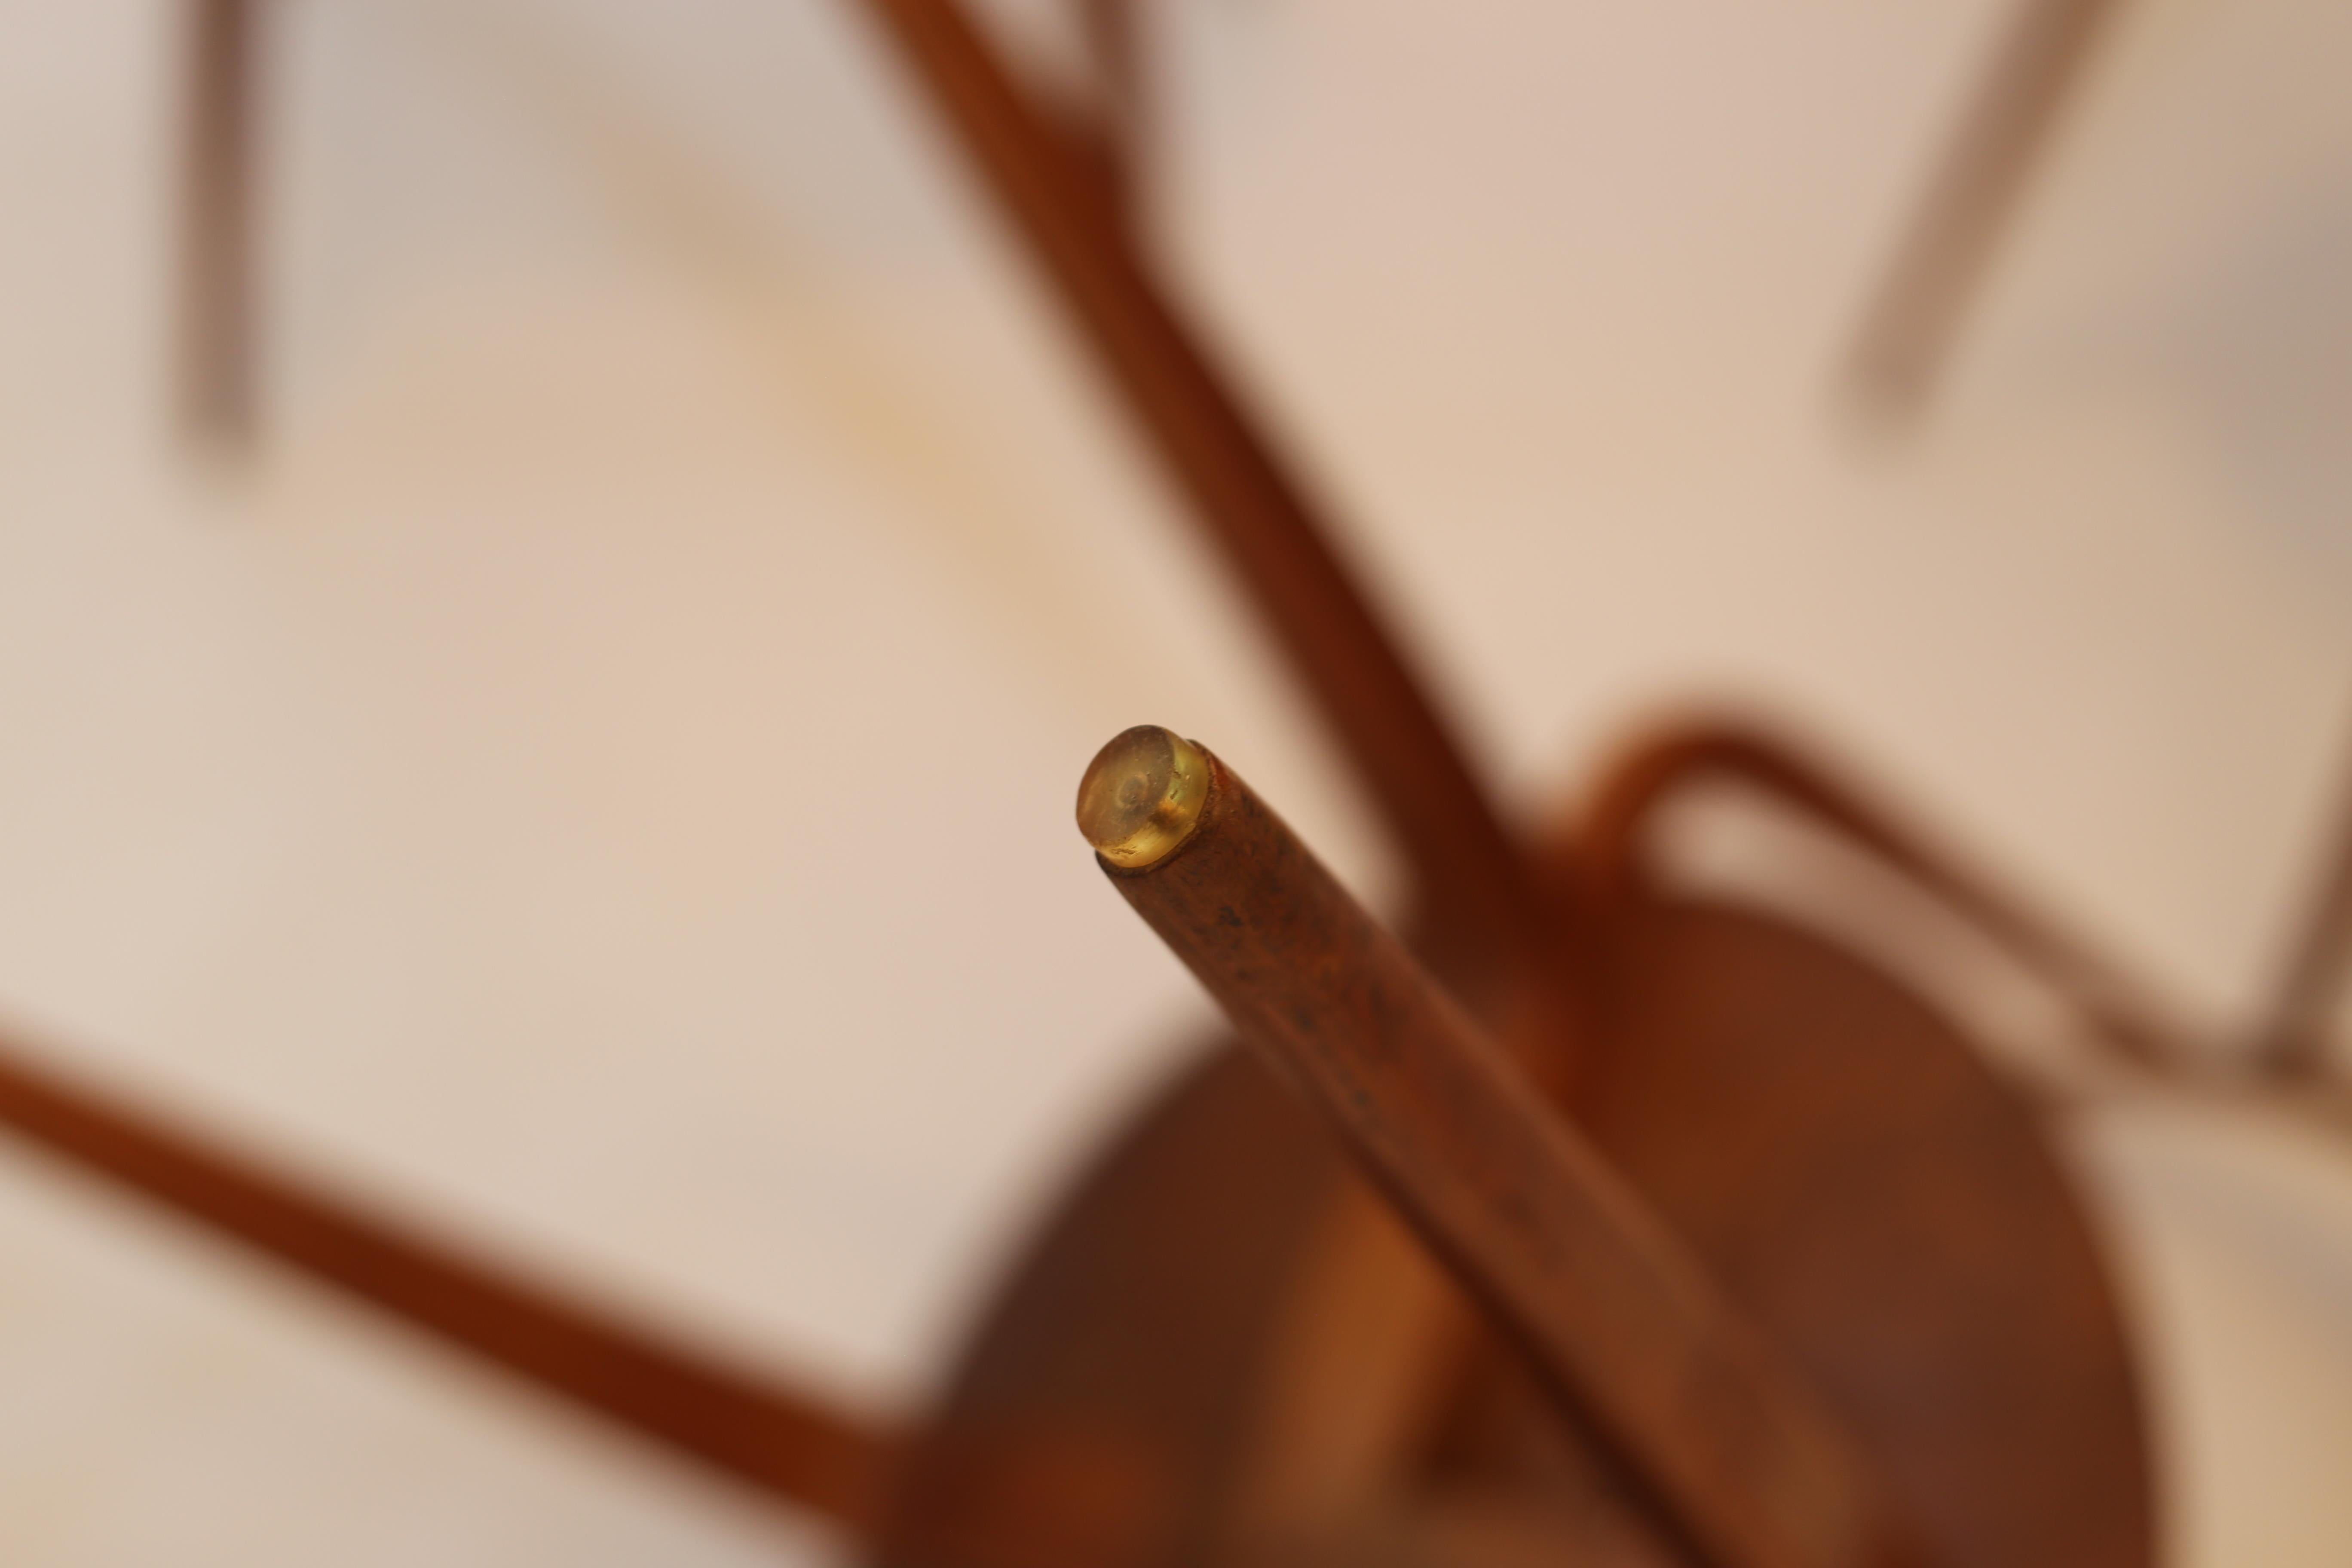
[{"label": "thick reddish-brown rod slanting from the top edge down to the round disc", "polygon": [[1536,877],[1317,505],[955,0],[861,0],[929,89],[1338,736],[1430,926],[1534,954]]}]

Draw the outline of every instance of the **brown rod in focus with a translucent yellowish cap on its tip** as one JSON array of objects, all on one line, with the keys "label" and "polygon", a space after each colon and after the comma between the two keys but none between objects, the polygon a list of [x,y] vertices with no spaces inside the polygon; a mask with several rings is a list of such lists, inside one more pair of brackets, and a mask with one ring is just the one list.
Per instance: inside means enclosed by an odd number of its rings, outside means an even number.
[{"label": "brown rod in focus with a translucent yellowish cap on its tip", "polygon": [[1094,759],[1077,818],[1242,1039],[1710,1561],[1917,1561],[1832,1418],[1679,1239],[1249,785],[1141,726]]}]

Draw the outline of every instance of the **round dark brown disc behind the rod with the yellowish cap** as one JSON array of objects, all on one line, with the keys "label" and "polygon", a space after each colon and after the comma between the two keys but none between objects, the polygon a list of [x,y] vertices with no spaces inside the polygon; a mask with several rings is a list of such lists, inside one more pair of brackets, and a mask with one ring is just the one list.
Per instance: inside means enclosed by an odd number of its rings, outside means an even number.
[{"label": "round dark brown disc behind the rod with the yellowish cap", "polygon": [[[1578,1119],[1811,1375],[1938,1561],[2150,1563],[2124,1326],[2034,1107],[1933,1009],[1785,919],[1642,900],[1604,950]],[[1211,1051],[1009,1274],[873,1561],[1247,1561],[1244,1472],[1279,1465],[1265,1401],[1279,1356],[1310,1354],[1287,1307],[1350,1185],[1305,1110],[1249,1058]],[[1376,1265],[1364,1288],[1383,1288]],[[1411,1516],[1482,1497],[1548,1521],[1529,1528],[1557,1535],[1552,1561],[1581,1561],[1613,1514],[1548,1514],[1557,1455],[1531,1453],[1581,1439],[1531,1396],[1477,1387],[1524,1382],[1510,1354],[1458,1368],[1402,1493],[1369,1500],[1381,1535],[1416,1540]],[[1491,1535],[1503,1559],[1529,1549],[1526,1528]],[[1463,1561],[1463,1533],[1428,1540]]]}]

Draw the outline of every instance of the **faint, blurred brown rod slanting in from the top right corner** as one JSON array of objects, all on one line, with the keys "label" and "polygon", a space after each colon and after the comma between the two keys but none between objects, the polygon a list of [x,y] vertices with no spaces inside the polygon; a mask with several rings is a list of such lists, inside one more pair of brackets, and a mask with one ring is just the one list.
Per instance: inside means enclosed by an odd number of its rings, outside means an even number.
[{"label": "faint, blurred brown rod slanting in from the top right corner", "polygon": [[1936,393],[2034,167],[2119,0],[2018,0],[1926,200],[1872,296],[1849,360],[1877,414],[1917,414]]}]

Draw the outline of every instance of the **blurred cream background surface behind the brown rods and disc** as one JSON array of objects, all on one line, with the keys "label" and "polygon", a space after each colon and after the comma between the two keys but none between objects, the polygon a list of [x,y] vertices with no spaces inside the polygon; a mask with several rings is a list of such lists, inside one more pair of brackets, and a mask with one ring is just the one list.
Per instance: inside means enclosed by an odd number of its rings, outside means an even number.
[{"label": "blurred cream background surface behind the brown rods and disc", "polygon": [[[278,9],[216,473],[176,7],[0,0],[0,1006],[910,1406],[1204,1018],[1065,825],[1091,748],[1211,738],[1390,867],[844,7]],[[2352,14],[2136,0],[1896,444],[1830,371],[2002,5],[1155,14],[1160,244],[1522,809],[1766,703],[2244,1027],[2352,757]],[[2176,1561],[2343,1561],[2352,1147],[2074,1145]],[[830,1554],[0,1145],[9,1563]]]}]

